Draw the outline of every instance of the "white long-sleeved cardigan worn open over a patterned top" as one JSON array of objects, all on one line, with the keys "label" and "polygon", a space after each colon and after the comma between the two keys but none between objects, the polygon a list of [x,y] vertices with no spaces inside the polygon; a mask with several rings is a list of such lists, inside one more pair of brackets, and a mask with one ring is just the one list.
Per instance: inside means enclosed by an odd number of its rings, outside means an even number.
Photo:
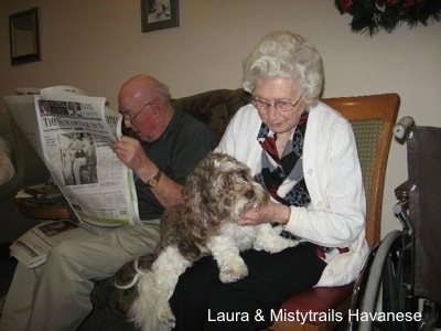
[{"label": "white long-sleeved cardigan worn open over a patterned top", "polygon": [[[256,108],[246,105],[233,117],[216,151],[244,162],[252,175],[260,172],[260,126]],[[316,286],[348,284],[356,278],[368,250],[366,199],[351,124],[322,103],[310,107],[303,172],[311,203],[291,206],[286,229],[326,247],[348,247],[348,253],[327,264]]]}]

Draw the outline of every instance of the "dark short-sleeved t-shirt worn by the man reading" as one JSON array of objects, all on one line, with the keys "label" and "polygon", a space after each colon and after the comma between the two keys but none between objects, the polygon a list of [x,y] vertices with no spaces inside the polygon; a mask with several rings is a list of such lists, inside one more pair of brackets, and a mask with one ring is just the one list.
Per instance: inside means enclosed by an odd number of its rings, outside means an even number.
[{"label": "dark short-sleeved t-shirt worn by the man reading", "polygon": [[[149,158],[169,178],[183,184],[185,178],[206,153],[217,146],[208,127],[185,111],[175,110],[161,137],[142,142]],[[161,217],[164,207],[151,190],[135,174],[139,216],[142,221]]]}]

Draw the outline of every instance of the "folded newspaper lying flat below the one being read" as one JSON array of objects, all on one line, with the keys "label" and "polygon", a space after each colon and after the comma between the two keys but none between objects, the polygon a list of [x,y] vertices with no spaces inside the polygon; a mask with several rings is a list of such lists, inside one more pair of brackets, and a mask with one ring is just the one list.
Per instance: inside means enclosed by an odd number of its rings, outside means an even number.
[{"label": "folded newspaper lying flat below the one being read", "polygon": [[10,247],[11,256],[28,268],[46,261],[47,253],[66,237],[84,236],[87,229],[71,221],[44,222],[18,238]]}]

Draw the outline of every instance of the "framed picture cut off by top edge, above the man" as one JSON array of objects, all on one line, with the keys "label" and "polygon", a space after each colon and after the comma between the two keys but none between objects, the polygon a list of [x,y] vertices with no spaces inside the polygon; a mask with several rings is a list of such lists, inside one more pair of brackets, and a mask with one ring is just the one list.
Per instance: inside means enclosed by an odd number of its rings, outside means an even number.
[{"label": "framed picture cut off by top edge, above the man", "polygon": [[179,0],[141,0],[142,32],[179,26]]}]

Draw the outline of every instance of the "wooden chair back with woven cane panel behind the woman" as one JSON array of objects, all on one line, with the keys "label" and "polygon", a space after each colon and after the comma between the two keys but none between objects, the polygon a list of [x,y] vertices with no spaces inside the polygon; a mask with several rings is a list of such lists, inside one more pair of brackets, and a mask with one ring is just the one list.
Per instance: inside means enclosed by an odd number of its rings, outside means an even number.
[{"label": "wooden chair back with woven cane panel behind the woman", "polygon": [[324,98],[323,102],[338,110],[353,126],[366,190],[366,239],[373,246],[380,238],[386,166],[399,96],[380,94]]}]

